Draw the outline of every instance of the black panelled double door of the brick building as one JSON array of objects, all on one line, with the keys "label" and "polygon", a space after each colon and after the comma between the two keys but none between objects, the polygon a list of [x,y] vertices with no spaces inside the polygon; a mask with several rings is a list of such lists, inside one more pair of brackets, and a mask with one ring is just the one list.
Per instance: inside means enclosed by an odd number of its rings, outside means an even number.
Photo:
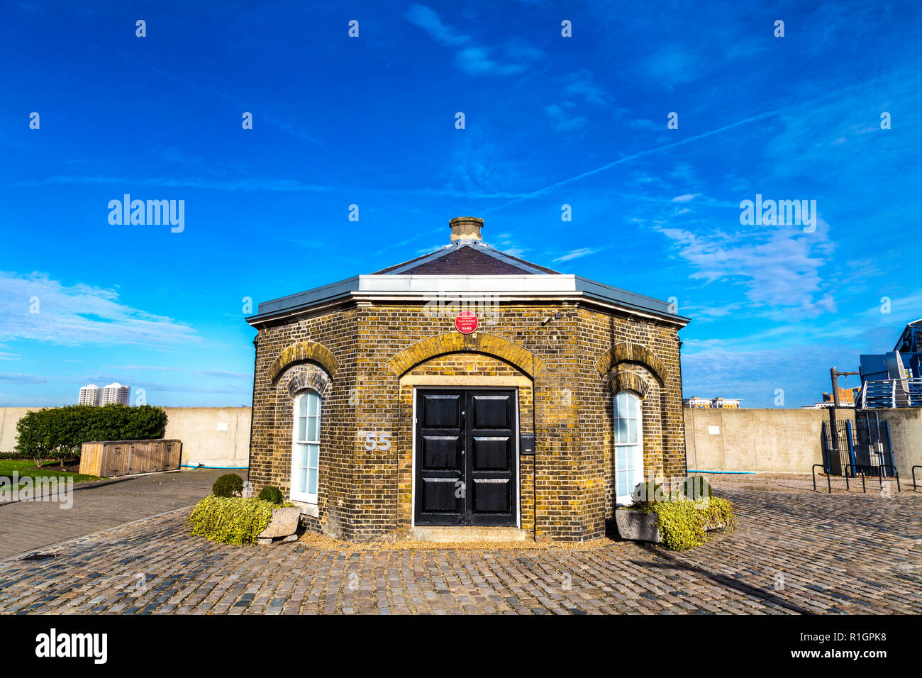
[{"label": "black panelled double door of the brick building", "polygon": [[515,526],[515,392],[418,390],[416,525]]}]

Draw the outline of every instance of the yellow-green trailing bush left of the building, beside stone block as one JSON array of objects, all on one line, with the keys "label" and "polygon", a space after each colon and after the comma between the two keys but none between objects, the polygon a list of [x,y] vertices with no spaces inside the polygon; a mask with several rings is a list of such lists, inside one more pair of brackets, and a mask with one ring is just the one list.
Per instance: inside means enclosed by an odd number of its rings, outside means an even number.
[{"label": "yellow-green trailing bush left of the building, beside stone block", "polygon": [[269,524],[273,507],[261,499],[211,495],[195,505],[189,527],[193,534],[211,541],[252,544]]}]

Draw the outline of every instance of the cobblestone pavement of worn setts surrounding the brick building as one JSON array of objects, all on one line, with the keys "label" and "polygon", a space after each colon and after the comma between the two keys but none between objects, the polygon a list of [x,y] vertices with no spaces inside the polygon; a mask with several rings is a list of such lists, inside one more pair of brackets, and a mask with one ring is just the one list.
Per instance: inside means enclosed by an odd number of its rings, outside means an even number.
[{"label": "cobblestone pavement of worn setts surrounding the brick building", "polygon": [[922,493],[719,489],[691,551],[231,547],[173,511],[0,561],[0,613],[922,613]]}]

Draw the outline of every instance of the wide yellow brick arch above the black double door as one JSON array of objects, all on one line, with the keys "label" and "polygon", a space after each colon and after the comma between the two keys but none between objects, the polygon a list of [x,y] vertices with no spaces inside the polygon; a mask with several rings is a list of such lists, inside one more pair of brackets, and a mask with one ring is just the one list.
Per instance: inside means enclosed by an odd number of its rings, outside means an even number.
[{"label": "wide yellow brick arch above the black double door", "polygon": [[416,365],[446,353],[485,353],[510,363],[519,371],[535,378],[547,368],[547,364],[525,347],[491,334],[477,332],[463,335],[460,332],[446,332],[436,337],[422,339],[394,354],[387,366],[397,375],[405,375]]}]

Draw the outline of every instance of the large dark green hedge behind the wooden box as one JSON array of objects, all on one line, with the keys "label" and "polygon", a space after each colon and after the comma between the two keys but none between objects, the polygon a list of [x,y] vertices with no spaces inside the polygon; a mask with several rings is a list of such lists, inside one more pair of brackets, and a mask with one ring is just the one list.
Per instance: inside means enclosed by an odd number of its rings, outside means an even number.
[{"label": "large dark green hedge behind the wooden box", "polygon": [[94,440],[162,438],[167,413],[150,405],[68,405],[26,414],[16,424],[16,451],[30,457],[79,457]]}]

